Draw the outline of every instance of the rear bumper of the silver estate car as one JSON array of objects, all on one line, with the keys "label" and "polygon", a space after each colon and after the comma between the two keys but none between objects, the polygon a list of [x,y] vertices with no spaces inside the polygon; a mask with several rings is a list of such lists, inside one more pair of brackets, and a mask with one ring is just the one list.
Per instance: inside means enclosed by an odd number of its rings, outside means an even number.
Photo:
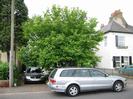
[{"label": "rear bumper of the silver estate car", "polygon": [[52,85],[49,82],[47,83],[48,87],[55,92],[65,92],[66,88],[64,85]]}]

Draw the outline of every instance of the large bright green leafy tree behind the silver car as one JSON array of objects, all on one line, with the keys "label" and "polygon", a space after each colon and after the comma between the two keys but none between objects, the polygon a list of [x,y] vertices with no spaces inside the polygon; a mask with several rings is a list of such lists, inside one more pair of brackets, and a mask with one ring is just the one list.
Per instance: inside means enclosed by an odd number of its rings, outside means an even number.
[{"label": "large bright green leafy tree behind the silver car", "polygon": [[35,16],[24,24],[29,41],[21,48],[19,58],[25,65],[45,68],[95,66],[99,61],[97,46],[103,38],[96,25],[96,19],[88,19],[85,11],[54,5],[44,16]]}]

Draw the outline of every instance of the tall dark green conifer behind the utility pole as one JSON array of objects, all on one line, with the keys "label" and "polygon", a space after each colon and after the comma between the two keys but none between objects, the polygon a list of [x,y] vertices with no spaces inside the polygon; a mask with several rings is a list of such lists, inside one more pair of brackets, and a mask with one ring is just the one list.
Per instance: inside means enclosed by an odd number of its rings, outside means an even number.
[{"label": "tall dark green conifer behind the utility pole", "polygon": [[[25,43],[22,23],[28,19],[24,0],[15,0],[15,48]],[[9,53],[11,27],[11,0],[0,0],[0,50]],[[9,54],[8,54],[9,56]]]}]

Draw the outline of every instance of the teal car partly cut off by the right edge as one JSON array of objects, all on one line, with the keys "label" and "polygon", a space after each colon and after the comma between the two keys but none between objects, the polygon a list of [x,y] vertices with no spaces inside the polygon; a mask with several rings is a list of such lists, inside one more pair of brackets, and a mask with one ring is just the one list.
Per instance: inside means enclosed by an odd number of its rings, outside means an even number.
[{"label": "teal car partly cut off by the right edge", "polygon": [[132,75],[133,76],[133,65],[126,65],[124,67],[121,67],[119,69],[119,72],[121,74]]}]

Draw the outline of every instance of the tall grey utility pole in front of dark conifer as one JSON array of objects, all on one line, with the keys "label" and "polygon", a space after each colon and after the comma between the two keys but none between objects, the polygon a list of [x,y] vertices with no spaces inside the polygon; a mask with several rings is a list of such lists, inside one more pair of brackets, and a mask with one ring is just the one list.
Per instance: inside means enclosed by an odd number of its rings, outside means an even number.
[{"label": "tall grey utility pole in front of dark conifer", "polygon": [[11,41],[9,61],[9,87],[13,86],[13,64],[14,64],[14,9],[15,0],[11,0]]}]

